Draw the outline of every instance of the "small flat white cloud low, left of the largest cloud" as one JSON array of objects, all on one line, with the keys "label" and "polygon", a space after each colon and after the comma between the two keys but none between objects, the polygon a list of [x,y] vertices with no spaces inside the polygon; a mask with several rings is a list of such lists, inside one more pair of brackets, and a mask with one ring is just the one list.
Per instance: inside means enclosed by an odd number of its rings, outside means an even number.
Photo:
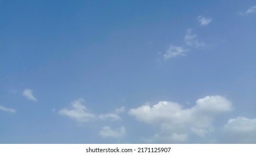
[{"label": "small flat white cloud low, left of the largest cloud", "polygon": [[105,126],[99,132],[101,137],[120,138],[125,135],[125,127],[117,128],[112,130],[111,127]]}]

